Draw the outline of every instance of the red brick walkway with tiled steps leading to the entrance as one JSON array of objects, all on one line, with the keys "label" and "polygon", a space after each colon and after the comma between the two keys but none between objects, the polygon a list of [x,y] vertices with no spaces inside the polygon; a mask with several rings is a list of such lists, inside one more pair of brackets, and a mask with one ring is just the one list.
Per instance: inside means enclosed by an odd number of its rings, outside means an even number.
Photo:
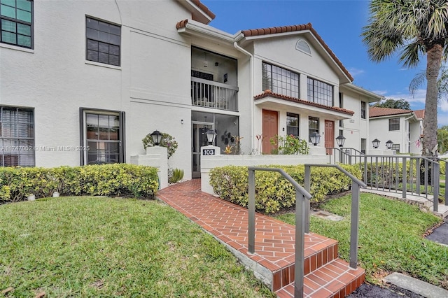
[{"label": "red brick walkway with tiled steps leading to the entrance", "polygon": [[[200,179],[189,180],[160,190],[158,198],[224,243],[279,297],[293,297],[294,226],[256,213],[255,254],[250,255],[247,209],[201,192],[200,187]],[[306,297],[344,297],[364,282],[363,269],[349,269],[337,258],[337,241],[309,233],[304,246]]]}]

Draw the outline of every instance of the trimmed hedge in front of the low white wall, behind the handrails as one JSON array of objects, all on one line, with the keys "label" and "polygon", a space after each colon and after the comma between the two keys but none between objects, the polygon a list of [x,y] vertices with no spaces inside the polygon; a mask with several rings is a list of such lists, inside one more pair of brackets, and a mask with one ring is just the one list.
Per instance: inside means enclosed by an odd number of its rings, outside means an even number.
[{"label": "trimmed hedge in front of the low white wall, behind the handrails", "polygon": [[[297,183],[304,185],[304,165],[269,166],[286,171]],[[342,166],[361,178],[357,165]],[[210,185],[221,199],[241,206],[248,204],[247,166],[223,166],[211,169]],[[311,201],[323,201],[327,194],[348,190],[351,179],[334,168],[311,167]],[[255,209],[265,213],[274,213],[295,204],[295,189],[280,173],[255,171]]]}]

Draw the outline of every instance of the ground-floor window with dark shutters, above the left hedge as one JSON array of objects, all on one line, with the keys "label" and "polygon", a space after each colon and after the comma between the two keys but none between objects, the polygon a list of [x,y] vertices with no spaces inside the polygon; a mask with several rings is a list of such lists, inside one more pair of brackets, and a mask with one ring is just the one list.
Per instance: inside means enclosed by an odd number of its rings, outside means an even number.
[{"label": "ground-floor window with dark shutters, above the left hedge", "polygon": [[124,112],[80,109],[81,164],[125,162]]}]

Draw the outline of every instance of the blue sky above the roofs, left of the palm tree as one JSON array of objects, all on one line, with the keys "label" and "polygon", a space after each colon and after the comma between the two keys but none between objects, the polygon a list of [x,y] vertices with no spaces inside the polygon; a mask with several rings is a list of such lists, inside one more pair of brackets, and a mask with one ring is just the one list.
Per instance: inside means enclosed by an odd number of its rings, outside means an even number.
[{"label": "blue sky above the roofs, left of the palm tree", "polygon": [[[426,59],[414,69],[405,69],[396,57],[371,62],[360,37],[369,17],[366,0],[202,0],[216,14],[210,25],[231,34],[244,29],[276,27],[311,22],[323,41],[349,70],[353,83],[386,99],[406,99],[412,110],[424,108],[426,84],[414,97],[409,83],[424,71]],[[438,108],[438,125],[448,125],[448,101]]]}]

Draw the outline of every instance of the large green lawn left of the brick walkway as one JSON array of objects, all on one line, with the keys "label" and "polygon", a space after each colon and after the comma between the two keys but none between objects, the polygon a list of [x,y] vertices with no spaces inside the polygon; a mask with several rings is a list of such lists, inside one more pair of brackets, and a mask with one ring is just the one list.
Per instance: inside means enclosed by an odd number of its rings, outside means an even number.
[{"label": "large green lawn left of the brick walkway", "polygon": [[0,292],[34,297],[273,297],[157,201],[59,197],[0,206]]}]

